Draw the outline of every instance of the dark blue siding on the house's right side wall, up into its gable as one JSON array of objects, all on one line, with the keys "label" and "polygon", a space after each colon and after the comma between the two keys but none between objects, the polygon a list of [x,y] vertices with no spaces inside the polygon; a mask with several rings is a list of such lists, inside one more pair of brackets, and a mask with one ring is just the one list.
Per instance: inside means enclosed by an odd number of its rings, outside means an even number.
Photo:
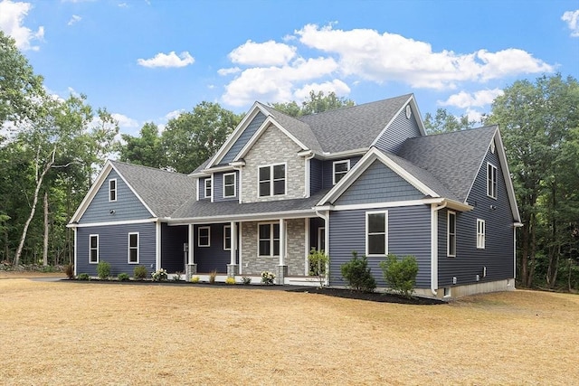
[{"label": "dark blue siding on the house's right side wall, up into its gable", "polygon": [[[497,166],[497,199],[487,196],[487,162]],[[456,257],[447,257],[447,210],[439,212],[439,287],[497,281],[514,278],[513,215],[510,210],[507,186],[503,179],[498,156],[488,151],[467,202],[474,206],[470,212],[456,212]],[[492,207],[491,207],[492,205]],[[477,219],[486,226],[485,248],[477,249]],[[483,278],[483,267],[487,276]]]}]

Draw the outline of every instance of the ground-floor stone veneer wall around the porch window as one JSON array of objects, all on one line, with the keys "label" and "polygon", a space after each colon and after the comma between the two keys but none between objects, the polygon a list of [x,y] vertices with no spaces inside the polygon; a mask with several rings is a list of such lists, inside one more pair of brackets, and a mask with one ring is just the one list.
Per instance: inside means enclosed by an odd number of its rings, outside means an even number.
[{"label": "ground-floor stone veneer wall around the porch window", "polygon": [[[289,276],[304,276],[306,269],[304,219],[286,221],[287,255],[286,265]],[[242,275],[260,275],[268,270],[277,275],[280,266],[279,257],[258,256],[257,239],[258,222],[242,222]]]}]

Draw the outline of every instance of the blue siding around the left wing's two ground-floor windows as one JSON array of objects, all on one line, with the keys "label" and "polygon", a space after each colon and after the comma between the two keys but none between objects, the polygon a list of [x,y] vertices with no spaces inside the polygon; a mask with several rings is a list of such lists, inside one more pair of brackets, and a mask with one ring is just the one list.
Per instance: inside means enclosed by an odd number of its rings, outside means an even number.
[{"label": "blue siding around the left wing's two ground-floor windows", "polygon": [[[128,264],[128,233],[138,232],[138,264]],[[99,235],[99,261],[110,263],[111,276],[133,276],[138,265],[155,269],[155,223],[106,225],[77,228],[76,272],[97,276],[97,264],[89,264],[89,236]]]}]

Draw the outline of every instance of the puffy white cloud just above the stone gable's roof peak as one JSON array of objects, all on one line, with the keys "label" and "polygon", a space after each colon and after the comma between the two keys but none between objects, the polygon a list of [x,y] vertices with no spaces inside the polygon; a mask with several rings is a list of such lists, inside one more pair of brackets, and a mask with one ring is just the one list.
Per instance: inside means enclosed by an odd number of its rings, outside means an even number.
[{"label": "puffy white cloud just above the stone gable's roof peak", "polygon": [[255,67],[225,86],[223,101],[232,106],[244,106],[255,99],[285,102],[293,99],[295,84],[317,80],[337,70],[332,58],[298,59],[282,67]]}]

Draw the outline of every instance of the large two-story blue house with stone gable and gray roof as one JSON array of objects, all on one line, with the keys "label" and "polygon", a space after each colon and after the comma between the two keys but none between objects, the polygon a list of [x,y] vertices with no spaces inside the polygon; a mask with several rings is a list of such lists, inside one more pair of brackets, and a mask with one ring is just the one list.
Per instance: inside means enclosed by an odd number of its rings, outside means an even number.
[{"label": "large two-story blue house with stone gable and gray roof", "polygon": [[166,268],[312,285],[308,252],[341,287],[352,251],[378,287],[388,253],[432,297],[514,288],[520,226],[498,127],[426,136],[413,94],[291,118],[256,102],[192,174],[109,161],[73,215],[76,273]]}]

